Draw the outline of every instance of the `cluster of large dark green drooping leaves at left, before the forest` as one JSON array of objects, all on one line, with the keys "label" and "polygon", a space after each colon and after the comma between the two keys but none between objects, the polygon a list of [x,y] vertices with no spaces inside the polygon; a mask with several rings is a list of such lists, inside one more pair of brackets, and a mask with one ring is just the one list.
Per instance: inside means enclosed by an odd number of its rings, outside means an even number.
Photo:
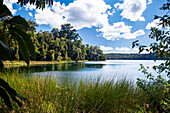
[{"label": "cluster of large dark green drooping leaves at left, before the forest", "polygon": [[[29,28],[28,23],[20,16],[6,19],[2,21],[2,23],[3,29],[0,29],[2,41],[9,40],[9,37],[15,39],[18,42],[23,60],[29,65],[29,55],[35,58],[35,49],[30,37],[26,34],[26,30]],[[5,44],[8,44],[8,41],[4,42]]]}]

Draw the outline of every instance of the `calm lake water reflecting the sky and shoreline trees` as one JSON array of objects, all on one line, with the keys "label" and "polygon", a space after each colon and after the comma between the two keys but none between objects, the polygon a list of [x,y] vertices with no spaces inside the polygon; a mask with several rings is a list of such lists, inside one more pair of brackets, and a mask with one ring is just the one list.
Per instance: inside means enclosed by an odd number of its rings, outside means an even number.
[{"label": "calm lake water reflecting the sky and shoreline trees", "polygon": [[[154,62],[153,60],[106,60],[106,61],[89,61],[84,63],[69,64],[49,64],[30,67],[20,67],[21,70],[31,72],[31,75],[55,76],[59,79],[67,78],[71,80],[87,79],[102,80],[127,79],[136,81],[137,78],[144,78],[144,75],[138,71],[140,64],[149,66],[160,64],[161,60]],[[155,71],[149,69],[153,74]]]}]

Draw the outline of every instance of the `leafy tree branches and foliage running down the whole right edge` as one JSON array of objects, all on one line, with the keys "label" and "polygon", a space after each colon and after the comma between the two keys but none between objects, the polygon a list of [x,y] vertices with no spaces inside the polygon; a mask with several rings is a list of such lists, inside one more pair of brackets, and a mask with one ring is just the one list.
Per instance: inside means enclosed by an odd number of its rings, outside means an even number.
[{"label": "leafy tree branches and foliage running down the whole right edge", "polygon": [[[164,16],[155,16],[154,19],[159,19],[159,26],[161,29],[151,28],[149,38],[154,39],[155,42],[148,46],[141,45],[138,41],[133,42],[133,46],[139,47],[139,52],[146,50],[150,55],[155,54],[155,61],[157,58],[161,58],[164,62],[158,66],[153,66],[153,69],[157,71],[158,76],[155,78],[147,69],[141,65],[141,71],[146,75],[148,81],[139,79],[137,85],[143,89],[150,97],[150,103],[153,112],[167,112],[170,111],[170,0],[160,8],[161,10],[168,10]],[[162,78],[161,74],[165,73],[169,80]],[[157,92],[162,92],[162,95],[158,95]]]}]

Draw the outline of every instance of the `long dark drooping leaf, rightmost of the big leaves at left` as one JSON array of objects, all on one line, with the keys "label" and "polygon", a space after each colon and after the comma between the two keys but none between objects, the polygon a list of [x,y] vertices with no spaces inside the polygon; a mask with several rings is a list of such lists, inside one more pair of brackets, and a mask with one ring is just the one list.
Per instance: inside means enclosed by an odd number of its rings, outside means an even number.
[{"label": "long dark drooping leaf, rightmost of the big leaves at left", "polygon": [[25,45],[27,46],[27,50],[29,51],[30,55],[35,58],[35,47],[30,39],[30,37],[28,36],[28,34],[22,30],[20,30],[17,27],[11,27],[11,29],[15,32],[17,32],[23,39],[23,41],[25,41]]}]

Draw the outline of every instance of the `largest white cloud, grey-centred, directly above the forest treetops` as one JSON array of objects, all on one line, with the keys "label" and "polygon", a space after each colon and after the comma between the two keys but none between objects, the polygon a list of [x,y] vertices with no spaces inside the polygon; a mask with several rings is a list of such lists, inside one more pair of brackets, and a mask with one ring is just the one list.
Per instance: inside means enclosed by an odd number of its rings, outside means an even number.
[{"label": "largest white cloud, grey-centred, directly above the forest treetops", "polygon": [[35,19],[38,24],[49,24],[52,27],[71,23],[76,29],[91,28],[108,24],[108,9],[111,6],[104,0],[75,0],[68,6],[54,1],[52,7],[46,7],[43,11],[36,9]]}]

